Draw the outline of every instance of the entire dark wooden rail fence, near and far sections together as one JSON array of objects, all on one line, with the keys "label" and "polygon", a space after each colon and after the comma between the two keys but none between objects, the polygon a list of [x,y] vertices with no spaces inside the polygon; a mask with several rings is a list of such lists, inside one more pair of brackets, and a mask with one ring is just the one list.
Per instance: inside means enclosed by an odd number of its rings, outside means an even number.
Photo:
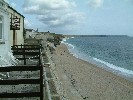
[{"label": "entire dark wooden rail fence, near and far sections together", "polygon": [[[7,91],[7,89],[1,89],[3,92],[0,93],[0,98],[31,98],[39,97],[43,100],[43,66],[41,63],[41,45],[14,45],[11,48],[13,50],[13,55],[18,56],[18,60],[22,60],[24,63],[16,66],[0,67],[0,72],[9,72],[10,77],[4,80],[0,80],[0,85],[2,88],[5,85],[13,87],[21,87],[21,89],[14,91]],[[36,64],[28,64],[27,59],[36,59]],[[37,76],[34,76],[36,72]],[[13,73],[13,74],[11,74]],[[20,74],[18,74],[20,73]],[[31,76],[29,75],[31,74]],[[12,75],[12,77],[11,77]],[[15,75],[18,75],[15,77]],[[22,75],[22,76],[21,76]],[[30,76],[30,77],[29,77]],[[34,77],[33,77],[34,76]],[[33,86],[38,85],[38,91],[34,90],[23,90],[23,85]],[[14,86],[15,85],[15,86]],[[28,87],[27,87],[28,88]],[[11,90],[11,89],[10,89]],[[21,91],[23,90],[23,91]]]}]

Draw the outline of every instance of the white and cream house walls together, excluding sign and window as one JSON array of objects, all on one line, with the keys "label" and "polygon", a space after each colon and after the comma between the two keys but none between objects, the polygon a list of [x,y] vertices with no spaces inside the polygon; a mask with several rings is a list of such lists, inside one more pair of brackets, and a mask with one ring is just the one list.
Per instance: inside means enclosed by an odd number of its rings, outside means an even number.
[{"label": "white and cream house walls together, excluding sign and window", "polygon": [[9,4],[4,0],[0,0],[0,16],[2,16],[2,39],[0,39],[0,66],[14,64],[11,54],[11,46],[13,45],[13,31],[10,30],[11,14],[20,18],[20,30],[16,31],[16,45],[24,44],[23,29],[24,17],[16,10],[11,9]]}]

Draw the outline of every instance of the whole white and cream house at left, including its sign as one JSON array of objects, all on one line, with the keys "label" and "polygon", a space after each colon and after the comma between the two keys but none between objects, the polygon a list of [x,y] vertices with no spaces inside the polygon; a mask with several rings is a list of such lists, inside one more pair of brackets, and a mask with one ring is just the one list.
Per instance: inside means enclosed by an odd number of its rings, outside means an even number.
[{"label": "whole white and cream house at left, including its sign", "polygon": [[11,64],[12,45],[24,44],[24,16],[0,0],[0,66]]}]

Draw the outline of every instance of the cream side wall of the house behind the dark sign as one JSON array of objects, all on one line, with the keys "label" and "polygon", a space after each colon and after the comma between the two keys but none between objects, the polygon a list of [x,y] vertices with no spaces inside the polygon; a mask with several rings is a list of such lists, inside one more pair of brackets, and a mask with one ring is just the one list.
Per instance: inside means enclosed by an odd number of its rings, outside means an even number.
[{"label": "cream side wall of the house behind the dark sign", "polygon": [[[16,44],[15,45],[24,44],[24,37],[23,37],[24,17],[22,15],[20,15],[18,12],[16,12],[16,10],[14,10],[13,8],[8,7],[8,11],[9,11],[9,19],[11,18],[11,15],[17,16],[18,18],[20,18],[20,30],[15,31],[15,34],[16,34]],[[13,30],[10,30],[10,43],[11,43],[11,45],[13,45]]]}]

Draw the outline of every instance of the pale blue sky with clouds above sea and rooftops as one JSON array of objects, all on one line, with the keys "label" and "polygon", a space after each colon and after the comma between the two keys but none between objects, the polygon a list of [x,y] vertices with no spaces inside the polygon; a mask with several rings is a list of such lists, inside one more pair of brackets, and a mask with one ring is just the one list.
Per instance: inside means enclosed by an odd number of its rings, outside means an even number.
[{"label": "pale blue sky with clouds above sea and rooftops", "polygon": [[25,27],[63,34],[133,36],[133,0],[6,0]]}]

